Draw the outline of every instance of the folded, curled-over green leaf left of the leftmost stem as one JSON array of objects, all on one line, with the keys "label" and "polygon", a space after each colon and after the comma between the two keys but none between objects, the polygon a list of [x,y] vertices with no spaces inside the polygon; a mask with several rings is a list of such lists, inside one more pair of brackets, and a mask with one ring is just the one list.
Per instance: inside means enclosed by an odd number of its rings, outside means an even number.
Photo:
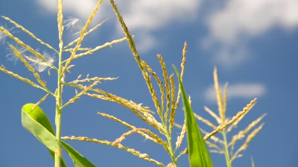
[{"label": "folded, curled-over green leaf left of the leftmost stem", "polygon": [[[59,142],[55,137],[52,125],[44,113],[44,111],[37,106],[32,110],[34,104],[25,104],[22,107],[22,125],[30,133],[32,133],[42,144],[47,146],[52,159],[55,158],[54,151],[58,148]],[[67,167],[62,158],[62,167]]]}]

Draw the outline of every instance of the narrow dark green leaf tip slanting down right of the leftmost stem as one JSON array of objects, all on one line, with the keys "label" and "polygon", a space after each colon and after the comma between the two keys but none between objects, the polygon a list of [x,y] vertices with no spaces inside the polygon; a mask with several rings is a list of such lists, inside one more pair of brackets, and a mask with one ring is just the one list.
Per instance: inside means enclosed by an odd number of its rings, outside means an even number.
[{"label": "narrow dark green leaf tip slanting down right of the leftmost stem", "polygon": [[69,146],[63,141],[61,141],[61,144],[68,153],[68,155],[72,158],[75,167],[96,167],[85,157],[83,157],[80,153],[78,153],[73,147]]}]

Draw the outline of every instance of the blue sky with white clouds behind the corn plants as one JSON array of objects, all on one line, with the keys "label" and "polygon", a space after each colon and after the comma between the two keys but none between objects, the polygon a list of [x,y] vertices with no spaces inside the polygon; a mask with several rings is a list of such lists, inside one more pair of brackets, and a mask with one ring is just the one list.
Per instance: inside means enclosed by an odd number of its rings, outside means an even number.
[{"label": "blue sky with white clouds behind the corn plants", "polygon": [[[250,167],[252,156],[256,167],[297,167],[297,69],[298,62],[298,1],[297,0],[125,0],[116,1],[131,34],[136,40],[140,56],[160,76],[157,54],[164,57],[169,73],[172,64],[179,66],[183,43],[188,43],[184,84],[192,97],[192,105],[199,115],[212,120],[204,110],[206,105],[217,111],[213,91],[213,68],[218,67],[220,84],[228,82],[227,116],[257,97],[254,108],[232,134],[244,129],[263,113],[263,129],[250,142],[243,157],[234,167]],[[86,21],[95,7],[95,0],[64,0],[64,18]],[[38,38],[58,49],[56,0],[1,0],[0,15],[11,18],[33,32]],[[108,0],[103,0],[91,26],[108,19],[93,35],[87,36],[83,47],[95,47],[124,37]],[[0,20],[0,26],[12,27]],[[47,48],[14,28],[11,32],[41,52]],[[73,32],[64,31],[63,40],[71,42]],[[6,39],[6,42],[11,40]],[[30,78],[33,76],[22,62],[8,61],[7,43],[0,45],[0,63],[8,70]],[[12,43],[12,42],[11,42]],[[13,43],[12,43],[13,44]],[[56,56],[49,52],[48,54]],[[67,56],[67,55],[66,55]],[[85,77],[119,77],[116,81],[99,84],[100,89],[154,108],[142,74],[129,50],[127,42],[117,43],[73,62],[76,66],[67,80]],[[53,70],[52,70],[53,73]],[[50,89],[55,88],[55,74],[40,73]],[[11,76],[0,73],[2,116],[0,130],[0,166],[52,167],[53,162],[45,146],[21,125],[21,107],[36,103],[45,94]],[[65,88],[64,102],[72,98],[74,90]],[[54,99],[49,97],[41,107],[53,123]],[[82,97],[65,108],[62,115],[62,136],[88,136],[114,141],[128,131],[123,125],[101,117],[96,112],[114,115],[137,127],[143,123],[128,109],[111,102]],[[182,108],[176,121],[183,120]],[[215,123],[215,120],[212,120]],[[199,123],[201,127],[205,127]],[[209,130],[207,127],[206,130]],[[174,130],[179,133],[178,129]],[[231,136],[230,136],[231,137]],[[245,140],[245,139],[244,139]],[[242,140],[238,146],[244,142]],[[185,140],[186,142],[186,140]],[[152,163],[123,150],[99,144],[68,141],[71,146],[97,166],[152,167]],[[123,144],[132,147],[164,164],[170,162],[162,146],[145,141],[138,135],[127,137]],[[185,143],[183,145],[186,146]],[[182,147],[183,147],[182,146]],[[212,153],[215,167],[224,167],[224,155]],[[71,160],[64,154],[69,166]],[[187,156],[180,159],[181,167],[188,166]]]}]

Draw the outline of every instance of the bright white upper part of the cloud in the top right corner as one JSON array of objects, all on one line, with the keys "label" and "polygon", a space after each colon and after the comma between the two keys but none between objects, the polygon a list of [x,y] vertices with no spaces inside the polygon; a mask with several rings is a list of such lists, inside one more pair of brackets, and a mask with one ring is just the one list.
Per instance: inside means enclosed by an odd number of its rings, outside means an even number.
[{"label": "bright white upper part of the cloud in the top right corner", "polygon": [[258,35],[276,25],[296,27],[297,9],[297,0],[229,0],[211,15],[208,26],[217,40],[234,43],[242,33]]}]

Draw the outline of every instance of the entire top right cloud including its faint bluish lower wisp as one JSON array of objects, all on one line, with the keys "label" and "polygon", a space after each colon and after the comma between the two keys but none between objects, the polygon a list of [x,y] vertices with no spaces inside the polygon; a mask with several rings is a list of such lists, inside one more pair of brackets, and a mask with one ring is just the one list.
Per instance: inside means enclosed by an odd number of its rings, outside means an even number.
[{"label": "entire top right cloud including its faint bluish lower wisp", "polygon": [[[286,30],[298,27],[297,9],[298,0],[228,0],[208,17],[210,34],[202,44],[210,48],[214,43],[219,45],[215,61],[231,60],[221,62],[227,66],[243,62],[249,57],[241,54],[247,52],[245,42],[249,39],[275,26]],[[240,54],[231,50],[238,50]],[[230,59],[233,57],[238,61],[233,62],[234,59]]]}]

